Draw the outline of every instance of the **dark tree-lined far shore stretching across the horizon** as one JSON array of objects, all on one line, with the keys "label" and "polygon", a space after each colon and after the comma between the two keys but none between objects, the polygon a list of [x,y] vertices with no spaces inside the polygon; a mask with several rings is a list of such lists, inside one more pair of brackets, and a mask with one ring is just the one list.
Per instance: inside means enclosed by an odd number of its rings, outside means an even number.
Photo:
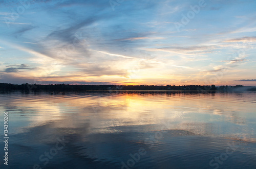
[{"label": "dark tree-lined far shore stretching across the horizon", "polygon": [[215,86],[215,85],[70,85],[70,84],[10,84],[0,83],[0,90],[25,91],[256,91],[254,86]]}]

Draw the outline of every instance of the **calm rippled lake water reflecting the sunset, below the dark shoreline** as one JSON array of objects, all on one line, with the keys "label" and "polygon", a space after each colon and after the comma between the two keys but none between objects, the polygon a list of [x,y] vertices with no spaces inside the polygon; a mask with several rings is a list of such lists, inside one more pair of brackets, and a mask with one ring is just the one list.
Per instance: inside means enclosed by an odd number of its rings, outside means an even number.
[{"label": "calm rippled lake water reflecting the sunset, below the dark shoreline", "polygon": [[2,92],[0,111],[8,168],[256,167],[256,92]]}]

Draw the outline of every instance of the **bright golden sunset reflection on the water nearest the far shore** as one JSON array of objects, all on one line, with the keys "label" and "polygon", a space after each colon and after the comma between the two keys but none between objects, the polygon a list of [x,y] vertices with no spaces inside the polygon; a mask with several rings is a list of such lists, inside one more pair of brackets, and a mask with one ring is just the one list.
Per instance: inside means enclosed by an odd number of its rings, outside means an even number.
[{"label": "bright golden sunset reflection on the water nearest the far shore", "polygon": [[[221,124],[231,124],[227,126],[231,135],[237,134],[233,126],[246,126],[246,116],[239,109],[243,103],[223,98],[221,93],[45,93],[22,99],[12,98],[10,103],[26,112],[28,128],[51,123],[53,128],[79,129],[88,124],[88,132],[106,133],[122,132],[118,127],[141,126],[143,131],[183,130],[214,136],[225,132]],[[249,112],[243,113],[252,113],[253,107],[248,104]],[[248,139],[246,128],[240,132]]]}]

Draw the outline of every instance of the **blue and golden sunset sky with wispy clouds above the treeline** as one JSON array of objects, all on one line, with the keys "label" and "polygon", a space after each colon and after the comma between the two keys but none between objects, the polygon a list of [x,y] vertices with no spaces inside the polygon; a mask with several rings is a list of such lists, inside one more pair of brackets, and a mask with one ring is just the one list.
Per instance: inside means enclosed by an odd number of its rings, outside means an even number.
[{"label": "blue and golden sunset sky with wispy clouds above the treeline", "polygon": [[0,0],[0,83],[256,86],[254,0]]}]

